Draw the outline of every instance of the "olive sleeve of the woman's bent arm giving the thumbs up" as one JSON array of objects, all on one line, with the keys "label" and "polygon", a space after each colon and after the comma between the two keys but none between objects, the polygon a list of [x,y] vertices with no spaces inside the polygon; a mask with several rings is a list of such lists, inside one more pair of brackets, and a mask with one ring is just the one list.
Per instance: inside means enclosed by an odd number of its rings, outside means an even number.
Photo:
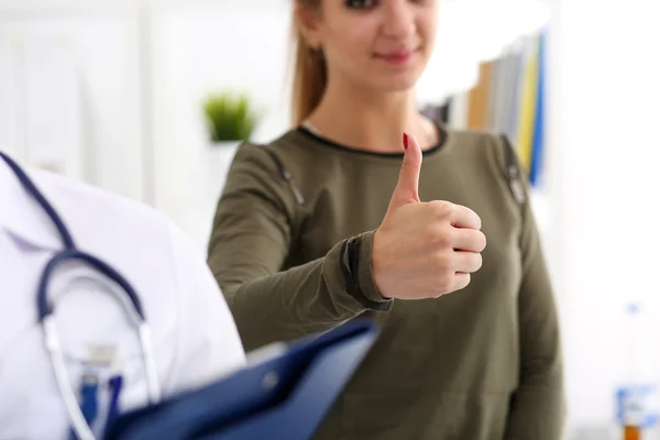
[{"label": "olive sleeve of the woman's bent arm giving the thumbs up", "polygon": [[392,307],[371,277],[373,232],[282,271],[298,235],[299,212],[275,161],[243,144],[216,210],[208,263],[246,351],[329,330],[367,309]]}]

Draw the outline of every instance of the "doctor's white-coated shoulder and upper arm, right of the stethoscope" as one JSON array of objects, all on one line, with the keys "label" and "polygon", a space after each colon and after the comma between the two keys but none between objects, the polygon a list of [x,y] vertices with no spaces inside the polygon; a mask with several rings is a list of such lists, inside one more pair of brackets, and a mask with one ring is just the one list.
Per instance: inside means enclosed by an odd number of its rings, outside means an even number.
[{"label": "doctor's white-coated shoulder and upper arm, right of the stethoscope", "polygon": [[[108,260],[140,296],[154,342],[172,345],[164,391],[183,391],[241,367],[243,346],[204,255],[166,215],[138,200],[33,170],[79,245]],[[175,319],[170,319],[175,317]],[[173,338],[174,337],[174,338]],[[161,341],[161,342],[158,342]]]}]

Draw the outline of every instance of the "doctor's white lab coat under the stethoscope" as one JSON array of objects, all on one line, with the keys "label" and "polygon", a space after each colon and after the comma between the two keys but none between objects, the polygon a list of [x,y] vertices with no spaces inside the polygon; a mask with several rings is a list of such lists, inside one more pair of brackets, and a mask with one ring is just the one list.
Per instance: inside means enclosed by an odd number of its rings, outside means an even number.
[{"label": "doctor's white lab coat under the stethoscope", "polygon": [[[138,292],[152,329],[164,397],[196,387],[245,362],[239,334],[206,262],[164,216],[121,197],[29,168],[63,218],[76,244],[118,270]],[[0,160],[0,439],[63,439],[70,426],[54,380],[36,286],[46,261],[62,249],[51,220]],[[89,348],[118,351],[101,380],[122,369],[121,408],[146,403],[136,332],[102,275],[68,263],[55,273],[57,329],[69,377],[78,393]],[[100,395],[97,437],[108,393]]]}]

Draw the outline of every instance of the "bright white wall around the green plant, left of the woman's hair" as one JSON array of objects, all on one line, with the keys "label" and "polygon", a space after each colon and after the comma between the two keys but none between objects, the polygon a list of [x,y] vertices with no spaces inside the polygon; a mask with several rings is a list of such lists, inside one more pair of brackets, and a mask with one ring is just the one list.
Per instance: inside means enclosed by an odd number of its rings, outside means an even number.
[{"label": "bright white wall around the green plant, left of the woman's hair", "polygon": [[[250,92],[263,114],[257,142],[283,132],[289,13],[271,8],[163,8],[153,18],[155,204],[204,249],[224,167],[201,112],[209,92]],[[210,165],[215,168],[210,168]]]}]

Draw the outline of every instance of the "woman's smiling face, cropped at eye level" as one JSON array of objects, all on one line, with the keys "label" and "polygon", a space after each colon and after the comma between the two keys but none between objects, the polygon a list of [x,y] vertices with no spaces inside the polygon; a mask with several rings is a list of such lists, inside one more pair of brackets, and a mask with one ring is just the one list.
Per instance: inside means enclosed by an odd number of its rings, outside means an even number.
[{"label": "woman's smiling face, cropped at eye level", "polygon": [[407,90],[433,50],[438,0],[322,0],[308,16],[331,81],[383,92]]}]

